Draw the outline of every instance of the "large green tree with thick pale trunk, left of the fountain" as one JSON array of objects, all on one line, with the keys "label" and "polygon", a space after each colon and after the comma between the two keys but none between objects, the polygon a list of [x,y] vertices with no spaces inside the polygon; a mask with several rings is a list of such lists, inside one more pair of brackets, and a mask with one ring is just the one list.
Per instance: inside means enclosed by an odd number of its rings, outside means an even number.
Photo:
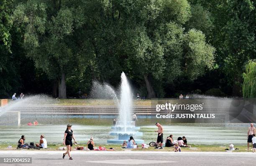
[{"label": "large green tree with thick pale trunk, left of the fountain", "polygon": [[17,6],[13,19],[24,28],[27,56],[50,79],[59,82],[59,98],[67,98],[66,79],[75,70],[82,73],[87,66],[87,42],[81,32],[79,2],[64,0],[28,0]]}]

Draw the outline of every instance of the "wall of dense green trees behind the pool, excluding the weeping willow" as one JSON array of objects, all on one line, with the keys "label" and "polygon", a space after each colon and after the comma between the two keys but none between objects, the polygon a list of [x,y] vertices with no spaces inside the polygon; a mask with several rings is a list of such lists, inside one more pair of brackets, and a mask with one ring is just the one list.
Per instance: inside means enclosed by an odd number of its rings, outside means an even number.
[{"label": "wall of dense green trees behind the pool, excluding the weeping willow", "polygon": [[0,97],[67,98],[122,71],[148,98],[241,96],[255,17],[252,0],[2,0]]}]

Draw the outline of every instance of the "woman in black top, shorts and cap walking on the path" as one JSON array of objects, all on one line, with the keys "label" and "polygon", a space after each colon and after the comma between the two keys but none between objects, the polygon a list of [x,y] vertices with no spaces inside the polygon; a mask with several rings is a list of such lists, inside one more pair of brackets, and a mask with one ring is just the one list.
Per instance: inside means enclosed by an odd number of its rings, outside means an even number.
[{"label": "woman in black top, shorts and cap walking on the path", "polygon": [[71,130],[72,125],[68,124],[67,125],[67,129],[64,133],[64,141],[63,141],[63,145],[67,146],[67,151],[66,153],[63,153],[62,158],[65,158],[65,155],[68,154],[69,155],[69,160],[73,160],[73,158],[70,156],[70,151],[72,151],[72,138],[74,139],[74,143],[77,143],[76,139],[74,138],[74,133],[73,130]]}]

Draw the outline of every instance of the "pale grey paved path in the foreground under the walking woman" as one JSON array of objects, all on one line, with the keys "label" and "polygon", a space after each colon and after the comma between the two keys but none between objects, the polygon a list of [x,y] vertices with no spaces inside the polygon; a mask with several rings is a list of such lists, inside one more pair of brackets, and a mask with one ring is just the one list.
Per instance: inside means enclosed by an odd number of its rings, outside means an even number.
[{"label": "pale grey paved path in the foreground under the walking woman", "polygon": [[252,166],[256,153],[248,152],[164,152],[164,151],[72,151],[72,158],[62,159],[64,151],[0,151],[0,157],[32,157],[32,164],[16,166]]}]

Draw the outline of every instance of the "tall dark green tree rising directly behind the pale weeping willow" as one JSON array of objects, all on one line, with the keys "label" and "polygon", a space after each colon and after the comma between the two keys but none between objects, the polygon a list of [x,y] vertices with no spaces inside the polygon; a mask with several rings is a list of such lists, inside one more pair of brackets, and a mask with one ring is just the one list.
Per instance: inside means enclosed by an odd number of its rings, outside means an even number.
[{"label": "tall dark green tree rising directly behind the pale weeping willow", "polygon": [[232,79],[233,96],[241,96],[242,73],[250,59],[255,59],[256,3],[252,0],[233,0],[228,3],[228,22],[225,26],[226,74]]}]

